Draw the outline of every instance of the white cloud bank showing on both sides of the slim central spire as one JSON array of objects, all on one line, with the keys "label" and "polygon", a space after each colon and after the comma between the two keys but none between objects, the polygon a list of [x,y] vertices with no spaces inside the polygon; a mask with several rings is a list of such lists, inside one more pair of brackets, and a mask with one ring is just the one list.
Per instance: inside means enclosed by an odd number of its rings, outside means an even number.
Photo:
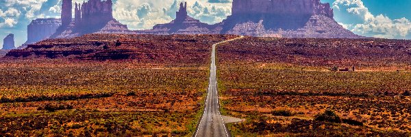
[{"label": "white cloud bank showing on both sides of the slim central spire", "polygon": [[[114,18],[127,24],[130,29],[151,29],[156,24],[172,21],[182,1],[117,0],[114,3]],[[227,0],[214,2],[188,0],[188,15],[205,23],[219,23],[231,14],[231,3],[226,3]]]}]

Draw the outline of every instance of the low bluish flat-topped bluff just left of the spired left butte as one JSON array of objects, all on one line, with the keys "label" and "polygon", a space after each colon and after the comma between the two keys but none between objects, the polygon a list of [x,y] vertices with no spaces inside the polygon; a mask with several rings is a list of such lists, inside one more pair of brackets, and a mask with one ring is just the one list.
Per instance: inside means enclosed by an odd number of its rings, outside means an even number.
[{"label": "low bluish flat-topped bluff just left of the spired left butte", "polygon": [[27,26],[27,41],[25,44],[32,44],[49,38],[62,25],[58,18],[38,18]]}]

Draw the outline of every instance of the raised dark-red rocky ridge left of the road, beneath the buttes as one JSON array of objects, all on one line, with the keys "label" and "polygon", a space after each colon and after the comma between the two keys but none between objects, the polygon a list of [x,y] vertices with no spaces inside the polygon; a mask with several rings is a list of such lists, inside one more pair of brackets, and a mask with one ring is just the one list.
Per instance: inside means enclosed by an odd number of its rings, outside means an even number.
[{"label": "raised dark-red rocky ridge left of the road, beneath the buttes", "polygon": [[209,45],[236,37],[238,36],[86,34],[76,38],[43,40],[28,45],[25,49],[11,50],[5,58],[203,62],[210,54]]}]

